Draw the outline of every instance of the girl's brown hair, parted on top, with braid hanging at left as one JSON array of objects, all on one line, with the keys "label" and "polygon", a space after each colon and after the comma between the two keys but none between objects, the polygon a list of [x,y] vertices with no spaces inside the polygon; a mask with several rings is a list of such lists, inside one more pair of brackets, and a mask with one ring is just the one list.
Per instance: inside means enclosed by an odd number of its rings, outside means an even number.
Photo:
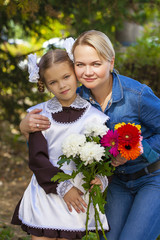
[{"label": "girl's brown hair, parted on top, with braid hanging at left", "polygon": [[40,92],[44,92],[45,86],[45,71],[52,67],[53,64],[68,62],[68,64],[73,68],[73,62],[69,58],[67,52],[62,49],[50,50],[46,54],[44,54],[38,64],[39,67],[39,80],[37,83],[38,90]]}]

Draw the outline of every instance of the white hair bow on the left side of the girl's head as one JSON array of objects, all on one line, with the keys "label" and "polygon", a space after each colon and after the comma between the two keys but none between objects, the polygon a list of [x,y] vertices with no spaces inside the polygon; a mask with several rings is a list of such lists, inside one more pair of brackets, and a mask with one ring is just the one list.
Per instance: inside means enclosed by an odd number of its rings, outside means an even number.
[{"label": "white hair bow on the left side of the girl's head", "polygon": [[39,79],[39,67],[37,66],[37,55],[28,55],[29,82],[37,83]]}]

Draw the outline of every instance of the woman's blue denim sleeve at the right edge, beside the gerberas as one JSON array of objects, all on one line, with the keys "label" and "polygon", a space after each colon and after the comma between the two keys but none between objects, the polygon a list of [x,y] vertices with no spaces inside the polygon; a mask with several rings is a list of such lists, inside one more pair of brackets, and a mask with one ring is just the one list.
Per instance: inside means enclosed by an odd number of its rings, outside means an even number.
[{"label": "woman's blue denim sleeve at the right edge, beside the gerberas", "polygon": [[143,139],[143,156],[148,162],[155,162],[160,157],[160,99],[149,87],[141,94],[140,121],[148,129],[148,136]]}]

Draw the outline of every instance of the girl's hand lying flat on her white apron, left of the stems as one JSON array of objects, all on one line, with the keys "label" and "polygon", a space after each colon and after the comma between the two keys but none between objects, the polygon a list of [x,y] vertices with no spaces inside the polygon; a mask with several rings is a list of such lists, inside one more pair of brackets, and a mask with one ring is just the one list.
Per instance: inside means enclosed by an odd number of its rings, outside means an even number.
[{"label": "girl's hand lying flat on her white apron, left of the stems", "polygon": [[81,197],[83,192],[78,188],[72,187],[63,197],[65,203],[70,212],[72,212],[72,207],[76,210],[77,213],[85,212],[84,208],[87,208],[86,202]]}]

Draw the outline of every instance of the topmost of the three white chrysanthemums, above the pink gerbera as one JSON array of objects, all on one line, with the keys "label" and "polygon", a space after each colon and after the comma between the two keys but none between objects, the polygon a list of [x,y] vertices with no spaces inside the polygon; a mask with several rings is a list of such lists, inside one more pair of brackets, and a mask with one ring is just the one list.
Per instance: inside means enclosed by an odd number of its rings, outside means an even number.
[{"label": "topmost of the three white chrysanthemums, above the pink gerbera", "polygon": [[108,131],[108,128],[105,124],[103,124],[100,121],[95,121],[95,122],[90,122],[86,124],[84,134],[86,134],[86,136],[88,137],[89,136],[103,137],[103,135],[105,135],[107,131]]}]

